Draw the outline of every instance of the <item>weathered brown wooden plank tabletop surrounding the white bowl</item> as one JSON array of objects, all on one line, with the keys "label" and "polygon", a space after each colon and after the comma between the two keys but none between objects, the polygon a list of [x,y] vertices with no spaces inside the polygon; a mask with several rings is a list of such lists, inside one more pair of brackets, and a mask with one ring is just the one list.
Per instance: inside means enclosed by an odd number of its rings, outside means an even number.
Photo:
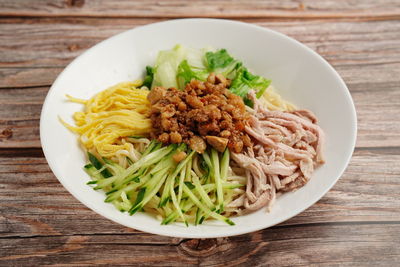
[{"label": "weathered brown wooden plank tabletop surrounding the white bowl", "polygon": [[[72,197],[39,142],[47,91],[76,56],[132,27],[231,18],[308,45],[343,77],[358,115],[353,158],[300,215],[207,240],[122,227]],[[0,265],[400,265],[399,0],[0,0]]]}]

